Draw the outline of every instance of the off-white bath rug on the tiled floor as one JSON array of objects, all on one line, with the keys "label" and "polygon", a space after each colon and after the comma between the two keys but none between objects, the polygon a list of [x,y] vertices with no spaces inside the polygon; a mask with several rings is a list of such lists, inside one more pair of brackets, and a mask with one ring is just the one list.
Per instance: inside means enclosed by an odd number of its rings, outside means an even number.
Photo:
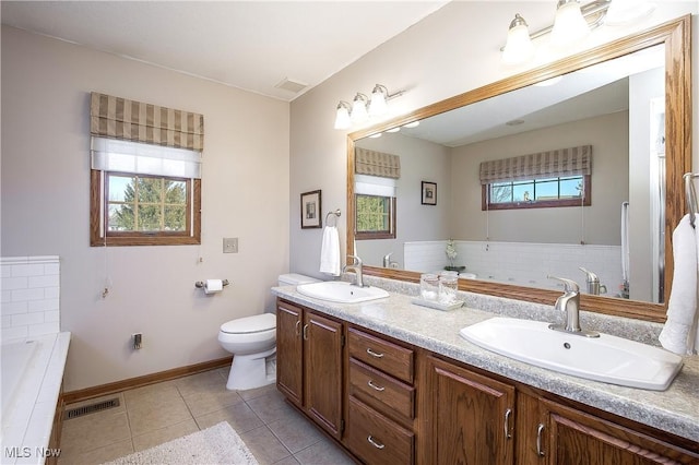
[{"label": "off-white bath rug on the tiled floor", "polygon": [[258,465],[250,450],[226,421],[104,465]]}]

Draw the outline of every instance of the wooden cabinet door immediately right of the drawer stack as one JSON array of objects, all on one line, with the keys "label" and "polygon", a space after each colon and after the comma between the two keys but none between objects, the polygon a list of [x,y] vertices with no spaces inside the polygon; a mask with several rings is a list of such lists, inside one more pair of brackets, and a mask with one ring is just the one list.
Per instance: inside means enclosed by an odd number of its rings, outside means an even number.
[{"label": "wooden cabinet door immediately right of the drawer stack", "polygon": [[430,463],[507,465],[514,461],[514,386],[428,357]]}]

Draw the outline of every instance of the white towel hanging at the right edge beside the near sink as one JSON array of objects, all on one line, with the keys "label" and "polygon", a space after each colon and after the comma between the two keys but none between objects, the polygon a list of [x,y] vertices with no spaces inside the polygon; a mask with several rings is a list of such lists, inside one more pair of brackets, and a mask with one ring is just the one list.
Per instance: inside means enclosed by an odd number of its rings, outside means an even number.
[{"label": "white towel hanging at the right edge beside the near sink", "polygon": [[675,354],[691,354],[697,341],[697,274],[699,228],[685,215],[673,231],[675,272],[667,303],[667,321],[659,341]]}]

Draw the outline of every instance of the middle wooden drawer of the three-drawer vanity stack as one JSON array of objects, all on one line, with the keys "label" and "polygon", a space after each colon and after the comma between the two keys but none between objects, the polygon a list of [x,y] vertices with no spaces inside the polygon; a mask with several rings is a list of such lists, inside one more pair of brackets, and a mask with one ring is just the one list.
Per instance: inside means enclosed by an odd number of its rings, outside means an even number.
[{"label": "middle wooden drawer of the three-drawer vanity stack", "polygon": [[415,389],[354,359],[350,359],[350,395],[406,420],[415,418]]}]

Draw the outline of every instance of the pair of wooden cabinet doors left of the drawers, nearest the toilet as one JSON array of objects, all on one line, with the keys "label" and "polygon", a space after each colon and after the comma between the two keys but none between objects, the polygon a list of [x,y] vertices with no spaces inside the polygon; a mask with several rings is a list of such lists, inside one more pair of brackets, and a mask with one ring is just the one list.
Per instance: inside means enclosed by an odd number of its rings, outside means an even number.
[{"label": "pair of wooden cabinet doors left of the drawers, nearest the toilet", "polygon": [[343,325],[277,300],[276,385],[336,439],[342,436]]}]

